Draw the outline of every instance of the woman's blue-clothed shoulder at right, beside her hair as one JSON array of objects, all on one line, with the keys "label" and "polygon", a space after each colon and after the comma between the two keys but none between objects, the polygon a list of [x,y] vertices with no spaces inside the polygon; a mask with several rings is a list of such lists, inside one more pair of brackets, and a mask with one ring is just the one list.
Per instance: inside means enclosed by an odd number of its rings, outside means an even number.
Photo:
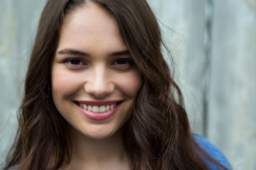
[{"label": "woman's blue-clothed shoulder at right, beside her hair", "polygon": [[[211,155],[211,157],[213,157],[216,161],[221,163],[223,166],[225,166],[229,170],[232,170],[231,165],[229,164],[229,161],[217,146],[212,144],[208,139],[206,139],[202,135],[193,134],[193,137],[195,141],[200,145],[200,147],[206,152],[208,152],[209,155]],[[211,170],[218,170],[218,168],[216,166],[213,166],[210,162],[207,161],[207,163],[209,165],[209,168],[211,168]]]}]

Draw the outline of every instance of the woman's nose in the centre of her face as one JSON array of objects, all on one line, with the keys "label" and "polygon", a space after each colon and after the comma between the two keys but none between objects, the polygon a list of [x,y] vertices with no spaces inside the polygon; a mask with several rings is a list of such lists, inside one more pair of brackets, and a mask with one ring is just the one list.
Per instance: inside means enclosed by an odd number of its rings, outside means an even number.
[{"label": "woman's nose in the centre of her face", "polygon": [[85,92],[95,97],[102,98],[115,89],[111,73],[104,67],[96,67],[90,71],[84,86]]}]

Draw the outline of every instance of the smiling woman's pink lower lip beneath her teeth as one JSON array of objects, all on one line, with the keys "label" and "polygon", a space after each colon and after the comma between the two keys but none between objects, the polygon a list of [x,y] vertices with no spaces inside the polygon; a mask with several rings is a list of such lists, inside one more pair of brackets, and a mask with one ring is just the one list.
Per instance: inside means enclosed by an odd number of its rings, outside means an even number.
[{"label": "smiling woman's pink lower lip beneath her teeth", "polygon": [[106,112],[103,112],[103,113],[94,113],[94,112],[90,112],[88,110],[84,110],[78,104],[76,104],[76,106],[83,113],[83,115],[85,115],[89,119],[100,121],[100,120],[106,120],[106,119],[110,118],[112,115],[114,115],[117,112],[117,109],[119,108],[120,104],[118,104],[114,108],[112,108],[112,109],[110,109],[110,110],[108,110]]}]

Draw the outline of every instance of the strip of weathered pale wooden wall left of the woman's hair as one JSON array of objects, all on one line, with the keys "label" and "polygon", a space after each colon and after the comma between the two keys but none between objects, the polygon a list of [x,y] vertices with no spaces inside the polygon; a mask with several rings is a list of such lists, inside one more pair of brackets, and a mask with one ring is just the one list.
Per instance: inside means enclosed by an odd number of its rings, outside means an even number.
[{"label": "strip of weathered pale wooden wall left of the woman's hair", "polygon": [[0,0],[0,163],[16,134],[29,47],[44,4],[45,0]]}]

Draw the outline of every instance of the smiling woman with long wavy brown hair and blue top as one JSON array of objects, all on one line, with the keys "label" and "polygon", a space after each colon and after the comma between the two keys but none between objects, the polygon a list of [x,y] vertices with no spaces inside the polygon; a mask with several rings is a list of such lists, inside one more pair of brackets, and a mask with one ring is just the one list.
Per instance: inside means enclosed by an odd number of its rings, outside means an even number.
[{"label": "smiling woman with long wavy brown hair and blue top", "polygon": [[144,0],[49,0],[5,170],[230,168],[191,135],[161,44]]}]

